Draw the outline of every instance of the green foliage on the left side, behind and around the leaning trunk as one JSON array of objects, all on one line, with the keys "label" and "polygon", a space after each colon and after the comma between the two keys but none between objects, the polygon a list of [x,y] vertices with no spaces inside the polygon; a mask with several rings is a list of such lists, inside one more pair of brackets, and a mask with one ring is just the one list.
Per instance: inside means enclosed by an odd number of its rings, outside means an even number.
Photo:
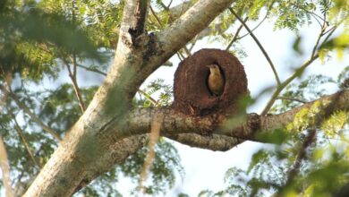
[{"label": "green foliage on the left side, behind and around the leaning trunk", "polygon": [[[106,71],[106,58],[112,58],[117,43],[118,27],[123,3],[114,1],[2,1],[0,9],[0,80],[4,87],[4,75],[11,73],[13,93],[43,123],[60,136],[72,127],[81,108],[71,83],[62,78],[66,67],[79,66],[84,72]],[[73,57],[77,63],[73,65]],[[109,61],[109,60],[108,60]],[[82,70],[81,70],[82,71]],[[48,88],[42,84],[53,82]],[[33,83],[34,82],[34,83]],[[47,85],[45,86],[47,87]],[[88,105],[97,86],[80,87],[83,101]],[[163,81],[154,81],[146,92],[159,94],[157,105],[168,105],[172,90]],[[147,107],[142,99],[135,99],[136,107]],[[137,104],[138,103],[138,104]],[[15,118],[15,119],[14,119]],[[57,141],[46,133],[37,122],[18,106],[7,99],[0,115],[1,135],[7,145],[13,183],[25,185],[38,174],[57,147]],[[16,122],[14,122],[16,120]],[[14,129],[19,124],[23,139]],[[34,155],[36,162],[30,158]],[[113,186],[118,175],[138,180],[146,150],[139,150],[120,167],[112,168],[98,177],[81,193],[88,196],[120,195]],[[135,162],[137,161],[137,162]],[[177,172],[177,174],[176,174]],[[157,145],[157,157],[151,168],[153,184],[147,193],[161,193],[173,186],[175,175],[183,175],[180,158],[173,145],[162,140]],[[27,185],[28,186],[28,185]]]}]

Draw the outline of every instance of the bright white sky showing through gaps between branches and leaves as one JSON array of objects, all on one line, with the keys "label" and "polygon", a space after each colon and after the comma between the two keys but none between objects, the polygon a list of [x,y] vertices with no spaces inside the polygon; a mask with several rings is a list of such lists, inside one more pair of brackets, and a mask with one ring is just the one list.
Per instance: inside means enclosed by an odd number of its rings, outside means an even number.
[{"label": "bright white sky showing through gaps between branches and leaves", "polygon": [[[174,1],[174,4],[179,4],[181,2],[182,1]],[[250,27],[254,27],[256,24],[257,22],[248,23]],[[293,73],[294,68],[304,62],[307,57],[306,55],[309,56],[313,43],[315,43],[319,34],[319,25],[314,22],[311,27],[306,27],[300,31],[302,37],[301,47],[305,52],[304,56],[294,54],[292,49],[292,45],[296,39],[294,32],[290,30],[274,31],[273,29],[273,22],[267,20],[259,29],[254,31],[254,34],[258,39],[260,39],[260,43],[265,47],[268,55],[276,65],[281,81],[284,81]],[[234,28],[234,30],[236,30],[236,28]],[[245,30],[241,32],[241,35],[244,33],[246,33]],[[251,96],[255,97],[260,94],[261,90],[275,85],[275,77],[271,72],[265,56],[262,55],[260,48],[250,36],[241,41],[241,46],[243,46],[248,56],[240,59],[240,61],[244,65]],[[226,48],[226,45],[217,42],[210,42],[208,39],[202,39],[196,47],[194,47],[192,52],[198,51],[204,47],[224,49]],[[174,72],[179,64],[179,59],[177,56],[173,56],[170,61],[174,66],[160,67],[155,73],[152,73],[149,76],[147,81],[143,83],[142,87],[146,87],[150,81],[154,81],[158,78],[164,79],[166,84],[172,85],[174,81]],[[345,56],[341,61],[329,61],[326,64],[321,64],[319,61],[316,61],[314,64],[311,64],[310,68],[305,72],[302,78],[306,78],[311,73],[322,73],[336,78],[338,73],[340,73],[348,63],[349,56]],[[63,74],[66,74],[64,72],[65,71],[63,71]],[[81,72],[84,71],[81,70]],[[93,84],[100,84],[104,79],[103,76],[93,73],[91,75],[83,74],[78,76],[78,82],[81,86],[89,86],[90,84],[86,82],[89,81],[87,79],[90,79],[91,77],[94,79]],[[67,74],[66,79],[68,79]],[[65,81],[66,79],[62,78],[61,80]],[[52,85],[50,82],[44,82],[43,84]],[[335,89],[332,91],[335,91]],[[255,105],[248,108],[248,112],[260,113],[268,102],[270,93],[271,92],[260,97]],[[173,196],[175,193],[186,193],[189,196],[197,196],[200,191],[205,189],[213,191],[222,190],[225,188],[224,176],[229,167],[240,167],[246,169],[250,163],[253,152],[260,148],[270,146],[259,142],[245,141],[234,147],[232,150],[222,152],[191,148],[175,141],[173,141],[173,143],[181,156],[185,176],[183,179],[178,177],[174,188],[167,194],[167,196]],[[120,189],[121,192],[127,192],[127,186],[124,187],[127,184],[131,183],[125,180],[123,183],[117,185],[116,188]]]}]

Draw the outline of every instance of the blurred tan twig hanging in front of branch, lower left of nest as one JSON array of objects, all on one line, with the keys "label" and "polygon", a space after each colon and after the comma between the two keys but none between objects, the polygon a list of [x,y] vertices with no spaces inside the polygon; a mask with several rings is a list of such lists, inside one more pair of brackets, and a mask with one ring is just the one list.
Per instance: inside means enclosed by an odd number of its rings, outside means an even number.
[{"label": "blurred tan twig hanging in front of branch, lower left of nest", "polygon": [[164,116],[160,115],[155,117],[151,123],[151,130],[149,133],[149,143],[148,143],[148,152],[146,158],[144,159],[144,164],[142,171],[140,173],[140,186],[139,193],[145,193],[144,182],[147,180],[149,169],[152,166],[155,158],[155,145],[157,144],[158,138],[160,137],[161,124],[164,119]]}]

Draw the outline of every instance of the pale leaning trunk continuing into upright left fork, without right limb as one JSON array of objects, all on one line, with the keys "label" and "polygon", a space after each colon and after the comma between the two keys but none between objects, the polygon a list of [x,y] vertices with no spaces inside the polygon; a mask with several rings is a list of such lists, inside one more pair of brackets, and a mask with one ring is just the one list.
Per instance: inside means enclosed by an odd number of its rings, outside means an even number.
[{"label": "pale leaning trunk continuing into upright left fork, without right limb", "polygon": [[[123,117],[143,81],[138,75],[152,64],[146,61],[152,56],[143,23],[147,4],[143,0],[125,2],[115,62],[106,81],[24,196],[70,196],[144,145],[140,140],[144,137],[121,136],[127,133]],[[119,137],[110,133],[115,130]]]}]

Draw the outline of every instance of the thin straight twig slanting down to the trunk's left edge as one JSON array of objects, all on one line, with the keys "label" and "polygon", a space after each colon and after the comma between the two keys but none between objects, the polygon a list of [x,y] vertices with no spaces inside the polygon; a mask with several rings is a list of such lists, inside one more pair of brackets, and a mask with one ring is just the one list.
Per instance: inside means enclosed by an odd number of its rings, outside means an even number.
[{"label": "thin straight twig slanting down to the trunk's left edge", "polygon": [[44,124],[39,118],[38,116],[35,116],[31,111],[30,108],[28,108],[24,103],[21,102],[20,99],[17,98],[17,96],[13,93],[12,90],[6,90],[8,95],[14,100],[14,102],[17,104],[18,107],[21,108],[21,110],[23,110],[27,115],[30,116],[31,120],[34,121],[35,123],[37,123],[38,125],[41,126],[41,128],[47,132],[50,133],[55,140],[57,140],[58,142],[61,142],[62,139],[61,137],[55,133],[55,131],[53,129],[51,129],[50,127],[48,127],[46,124]]}]

